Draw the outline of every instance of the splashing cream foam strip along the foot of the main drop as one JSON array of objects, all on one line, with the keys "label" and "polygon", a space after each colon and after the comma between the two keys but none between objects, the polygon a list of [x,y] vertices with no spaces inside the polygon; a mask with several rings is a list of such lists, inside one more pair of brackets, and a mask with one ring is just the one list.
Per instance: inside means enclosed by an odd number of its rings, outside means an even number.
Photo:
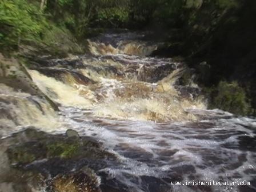
[{"label": "splashing cream foam strip along the foot of the main drop", "polygon": [[130,120],[188,121],[196,119],[194,115],[186,114],[175,100],[167,105],[157,98],[136,99],[132,102],[115,99],[113,102],[103,103],[95,107],[94,114],[98,117]]}]

